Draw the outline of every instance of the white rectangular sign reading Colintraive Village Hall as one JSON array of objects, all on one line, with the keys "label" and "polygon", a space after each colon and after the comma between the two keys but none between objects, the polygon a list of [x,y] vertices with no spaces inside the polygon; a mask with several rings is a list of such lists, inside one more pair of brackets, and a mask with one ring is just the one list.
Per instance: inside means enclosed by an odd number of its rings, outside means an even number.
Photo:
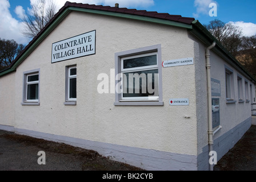
[{"label": "white rectangular sign reading Colintraive Village Hall", "polygon": [[95,34],[94,30],[53,43],[51,63],[95,54]]}]

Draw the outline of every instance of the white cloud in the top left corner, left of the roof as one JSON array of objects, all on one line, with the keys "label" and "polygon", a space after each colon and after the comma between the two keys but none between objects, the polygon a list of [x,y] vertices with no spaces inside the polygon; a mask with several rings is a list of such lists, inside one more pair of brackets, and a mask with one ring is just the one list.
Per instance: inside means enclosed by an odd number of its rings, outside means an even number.
[{"label": "white cloud in the top left corner, left of the roof", "polygon": [[13,18],[9,9],[9,1],[0,0],[0,38],[14,39],[18,44],[26,44],[27,39],[22,35],[22,22]]}]

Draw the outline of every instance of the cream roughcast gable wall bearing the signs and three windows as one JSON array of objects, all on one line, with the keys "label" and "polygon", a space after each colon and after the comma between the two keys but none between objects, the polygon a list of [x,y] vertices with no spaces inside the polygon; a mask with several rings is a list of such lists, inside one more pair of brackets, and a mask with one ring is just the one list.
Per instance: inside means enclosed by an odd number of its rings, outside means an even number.
[{"label": "cream roughcast gable wall bearing the signs and three windows", "polygon": [[[51,44],[96,30],[96,54],[51,64]],[[110,75],[114,53],[161,44],[162,59],[194,57],[194,42],[182,28],[86,13],[71,13],[19,65],[15,118],[19,129],[123,146],[197,155],[194,65],[163,68],[164,106],[114,106],[114,94],[99,94],[99,73]],[[77,64],[77,105],[65,101],[65,67]],[[24,106],[22,73],[40,68],[40,105]],[[112,78],[113,79],[113,78]],[[169,106],[189,98],[189,106]],[[190,117],[186,119],[184,117]]]}]

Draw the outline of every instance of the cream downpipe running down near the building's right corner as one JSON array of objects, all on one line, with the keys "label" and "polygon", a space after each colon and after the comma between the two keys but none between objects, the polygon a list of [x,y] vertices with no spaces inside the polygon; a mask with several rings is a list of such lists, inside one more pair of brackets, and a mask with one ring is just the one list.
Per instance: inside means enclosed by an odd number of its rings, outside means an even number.
[{"label": "cream downpipe running down near the building's right corner", "polygon": [[[215,42],[211,46],[206,48],[205,57],[206,57],[206,74],[207,74],[207,92],[208,92],[208,143],[209,143],[209,152],[213,151],[213,117],[211,113],[211,64],[210,64],[210,49],[215,46]],[[213,171],[213,164],[209,163],[210,171]]]}]

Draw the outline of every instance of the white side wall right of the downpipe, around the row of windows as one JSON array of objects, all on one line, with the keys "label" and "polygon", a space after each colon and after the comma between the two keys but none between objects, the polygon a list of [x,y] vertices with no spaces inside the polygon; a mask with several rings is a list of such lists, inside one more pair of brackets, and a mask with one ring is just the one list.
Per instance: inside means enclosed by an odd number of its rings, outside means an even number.
[{"label": "white side wall right of the downpipe, around the row of windows", "polygon": [[[225,81],[225,65],[233,69],[233,78],[234,78],[234,100],[236,103],[226,104],[226,81]],[[211,53],[211,77],[221,81],[221,97],[214,96],[220,100],[220,117],[221,117],[221,126],[222,129],[214,137],[218,138],[220,135],[226,133],[233,127],[237,126],[242,121],[245,121],[247,118],[251,117],[251,102],[242,102],[238,101],[238,83],[237,83],[237,74],[242,76],[242,86],[243,86],[243,100],[245,101],[245,78],[249,81],[250,78],[245,77],[243,72],[237,71],[233,65],[225,63],[220,57]],[[254,85],[254,84],[253,84]],[[250,88],[248,88],[250,91]],[[249,92],[250,98],[250,92]]]}]

